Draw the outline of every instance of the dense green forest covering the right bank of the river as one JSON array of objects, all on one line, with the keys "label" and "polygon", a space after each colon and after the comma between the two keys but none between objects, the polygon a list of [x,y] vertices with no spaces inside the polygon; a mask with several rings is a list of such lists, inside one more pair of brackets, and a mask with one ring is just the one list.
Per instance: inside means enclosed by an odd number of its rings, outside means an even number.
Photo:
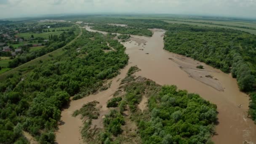
[{"label": "dense green forest covering the right bank of the river", "polygon": [[223,72],[232,72],[240,90],[255,85],[256,36],[231,29],[177,26],[165,33],[165,49],[199,61]]}]

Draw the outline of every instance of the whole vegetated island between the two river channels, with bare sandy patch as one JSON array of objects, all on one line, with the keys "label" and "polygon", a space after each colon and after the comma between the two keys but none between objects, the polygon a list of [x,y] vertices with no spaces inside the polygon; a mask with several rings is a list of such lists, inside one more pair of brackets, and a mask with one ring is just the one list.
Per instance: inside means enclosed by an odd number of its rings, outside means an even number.
[{"label": "whole vegetated island between the two river channels, with bare sandy patch", "polygon": [[[124,89],[124,99],[132,112],[131,119],[138,124],[143,144],[211,142],[217,121],[216,105],[197,94],[177,90],[174,85],[160,86],[140,77]],[[141,115],[137,106],[142,95],[149,96],[149,111]]]}]

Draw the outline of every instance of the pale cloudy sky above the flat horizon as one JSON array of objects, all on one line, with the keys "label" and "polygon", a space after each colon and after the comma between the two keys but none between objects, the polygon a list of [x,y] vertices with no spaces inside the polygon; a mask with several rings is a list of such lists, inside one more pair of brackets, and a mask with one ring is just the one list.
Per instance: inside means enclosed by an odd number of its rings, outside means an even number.
[{"label": "pale cloudy sky above the flat horizon", "polygon": [[0,18],[60,13],[174,13],[256,18],[256,0],[0,0]]}]

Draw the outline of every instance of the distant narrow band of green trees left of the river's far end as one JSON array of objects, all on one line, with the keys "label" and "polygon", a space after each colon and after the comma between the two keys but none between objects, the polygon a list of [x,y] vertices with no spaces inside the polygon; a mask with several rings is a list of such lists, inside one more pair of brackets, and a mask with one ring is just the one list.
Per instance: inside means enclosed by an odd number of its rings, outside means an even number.
[{"label": "distant narrow band of green trees left of the river's far end", "polygon": [[152,36],[152,32],[149,29],[140,27],[120,27],[109,24],[93,24],[92,29],[120,34],[143,35],[148,37]]}]

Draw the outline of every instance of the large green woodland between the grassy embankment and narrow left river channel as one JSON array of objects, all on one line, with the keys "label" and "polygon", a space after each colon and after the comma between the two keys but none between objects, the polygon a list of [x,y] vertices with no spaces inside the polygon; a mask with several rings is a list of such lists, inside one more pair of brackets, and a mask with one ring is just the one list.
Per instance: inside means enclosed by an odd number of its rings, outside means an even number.
[{"label": "large green woodland between the grassy embankment and narrow left river channel", "polygon": [[[116,51],[103,51],[107,41]],[[26,75],[11,74],[0,83],[0,143],[28,143],[22,131],[40,144],[54,143],[53,131],[70,96],[79,99],[96,92],[128,63],[123,45],[99,33],[83,32],[65,49]]]}]

